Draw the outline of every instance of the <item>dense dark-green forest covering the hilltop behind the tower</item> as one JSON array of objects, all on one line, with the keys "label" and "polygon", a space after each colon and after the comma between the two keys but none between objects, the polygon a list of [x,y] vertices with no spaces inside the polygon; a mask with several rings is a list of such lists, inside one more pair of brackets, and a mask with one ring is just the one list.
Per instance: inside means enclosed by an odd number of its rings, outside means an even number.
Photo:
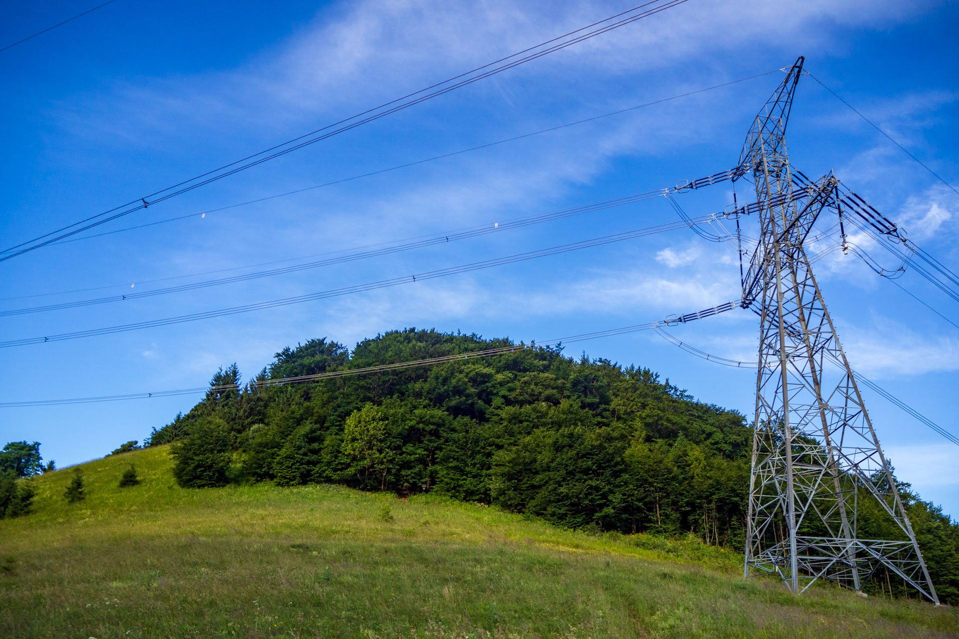
[{"label": "dense dark-green forest covering the hilltop behind the tower", "polygon": [[[691,534],[741,549],[752,431],[645,368],[528,348],[355,377],[280,380],[509,346],[391,331],[350,353],[326,339],[285,348],[245,384],[236,365],[186,415],[175,443],[186,487],[273,481],[437,491],[571,528]],[[959,525],[901,484],[943,601],[959,602]],[[868,509],[860,536],[895,538]],[[895,578],[871,587],[901,594]]]}]

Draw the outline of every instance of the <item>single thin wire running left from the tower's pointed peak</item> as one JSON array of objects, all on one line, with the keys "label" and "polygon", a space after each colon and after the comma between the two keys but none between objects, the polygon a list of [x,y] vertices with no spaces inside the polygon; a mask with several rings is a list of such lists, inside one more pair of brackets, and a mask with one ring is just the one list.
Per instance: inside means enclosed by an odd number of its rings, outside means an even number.
[{"label": "single thin wire running left from the tower's pointed peak", "polygon": [[757,74],[757,75],[755,75],[755,76],[749,76],[749,77],[747,77],[747,78],[740,78],[739,80],[730,80],[730,81],[728,81],[728,82],[722,82],[722,83],[720,83],[720,84],[713,84],[713,86],[707,86],[707,87],[702,88],[702,89],[696,89],[695,91],[688,91],[687,93],[681,93],[681,94],[676,95],[676,96],[670,96],[670,97],[668,97],[668,98],[660,98],[660,99],[654,100],[654,101],[652,101],[652,102],[643,103],[643,104],[637,104],[637,105],[635,105],[635,106],[630,106],[630,107],[627,107],[627,108],[623,108],[623,109],[620,109],[620,110],[618,110],[618,111],[612,111],[612,112],[610,112],[610,113],[604,113],[604,114],[602,114],[602,115],[596,115],[596,116],[593,116],[593,117],[590,117],[590,118],[586,118],[586,119],[584,119],[584,120],[577,120],[577,121],[575,121],[575,122],[567,123],[567,124],[565,124],[565,125],[550,126],[549,128],[543,128],[543,129],[540,129],[540,130],[538,130],[538,131],[532,131],[532,132],[530,132],[530,133],[524,133],[524,134],[522,134],[522,135],[517,135],[517,136],[511,137],[511,138],[506,138],[506,139],[504,139],[504,140],[498,140],[498,141],[496,141],[496,142],[489,142],[489,143],[487,143],[487,144],[479,145],[479,147],[462,148],[462,149],[460,149],[460,150],[451,151],[451,152],[449,152],[449,153],[443,153],[443,154],[441,154],[441,155],[434,155],[433,157],[428,157],[428,158],[425,158],[425,159],[422,159],[422,160],[416,160],[416,161],[414,161],[414,162],[408,162],[408,163],[406,163],[406,164],[397,165],[397,166],[395,166],[395,167],[389,167],[388,169],[380,169],[380,170],[378,170],[378,171],[369,171],[369,172],[366,172],[366,173],[361,173],[361,174],[359,174],[359,175],[353,175],[353,176],[350,176],[350,177],[343,177],[343,178],[341,178],[341,179],[339,179],[339,180],[333,180],[333,181],[330,181],[330,182],[324,182],[324,183],[322,183],[322,184],[316,184],[316,185],[314,185],[314,186],[304,187],[304,188],[302,188],[302,189],[295,189],[295,190],[293,190],[293,191],[287,191],[287,192],[281,193],[281,194],[273,194],[273,195],[267,195],[267,196],[264,196],[264,197],[257,197],[257,198],[255,198],[255,199],[246,200],[245,202],[238,202],[238,203],[236,203],[236,204],[229,204],[229,205],[227,205],[227,206],[222,206],[222,207],[219,207],[219,208],[216,208],[216,209],[207,209],[207,210],[205,210],[205,211],[200,211],[199,213],[190,213],[190,214],[187,214],[187,215],[185,215],[185,216],[177,216],[177,217],[169,217],[169,218],[167,218],[167,219],[159,219],[159,220],[157,220],[157,221],[155,221],[155,222],[149,222],[149,223],[146,223],[146,224],[137,224],[136,226],[129,226],[129,227],[127,227],[127,228],[116,229],[116,230],[114,230],[114,231],[106,231],[106,232],[104,232],[104,233],[97,233],[97,234],[95,234],[95,235],[82,236],[82,237],[80,237],[80,238],[71,238],[71,239],[69,239],[69,240],[59,240],[59,241],[57,241],[57,242],[53,242],[53,244],[54,244],[54,245],[56,245],[56,244],[65,244],[65,243],[71,242],[71,241],[81,241],[81,240],[91,240],[91,239],[93,239],[93,238],[102,238],[102,237],[107,236],[107,235],[113,235],[113,234],[116,234],[116,233],[124,233],[124,232],[126,232],[126,231],[133,231],[133,230],[136,230],[136,229],[147,228],[147,227],[150,227],[150,226],[156,226],[157,224],[165,224],[165,223],[167,223],[167,222],[175,222],[175,221],[178,221],[178,220],[180,220],[180,219],[187,219],[187,218],[189,218],[189,217],[205,217],[206,215],[211,214],[211,213],[218,213],[218,212],[220,212],[220,211],[227,211],[227,210],[229,210],[229,209],[235,209],[235,208],[238,208],[238,207],[241,207],[241,206],[247,206],[247,205],[249,205],[249,204],[258,204],[258,203],[260,203],[260,202],[266,202],[266,201],[268,201],[268,200],[276,199],[276,198],[278,198],[278,197],[286,197],[286,196],[288,196],[288,195],[301,194],[301,193],[305,193],[305,192],[307,192],[307,191],[313,191],[313,190],[315,190],[315,189],[322,189],[322,188],[325,188],[325,187],[335,186],[335,185],[337,185],[337,184],[343,184],[344,182],[351,182],[351,181],[353,181],[353,180],[359,180],[359,179],[363,179],[363,178],[365,178],[365,177],[372,177],[373,175],[380,175],[380,174],[382,174],[382,173],[386,173],[386,172],[389,172],[389,171],[398,171],[398,170],[400,170],[400,169],[408,169],[409,167],[415,167],[415,166],[420,165],[420,164],[426,164],[427,162],[434,162],[435,160],[442,160],[442,159],[445,159],[445,158],[448,158],[448,157],[453,157],[453,156],[456,156],[456,155],[461,155],[461,154],[463,154],[463,153],[469,153],[469,152],[471,152],[471,151],[480,150],[480,149],[482,149],[482,148],[496,147],[496,146],[498,146],[498,145],[507,144],[507,143],[509,143],[509,142],[516,142],[516,141],[518,141],[518,140],[523,140],[523,139],[525,139],[525,138],[529,138],[529,137],[532,137],[532,136],[534,136],[534,135],[540,135],[540,134],[543,134],[543,133],[550,133],[550,132],[552,132],[552,131],[558,131],[558,130],[561,130],[561,129],[563,129],[563,128],[569,128],[569,127],[571,127],[571,126],[584,125],[584,124],[586,124],[586,123],[596,122],[597,120],[602,120],[603,118],[609,118],[609,117],[612,117],[612,116],[615,116],[615,115],[620,115],[620,114],[623,114],[623,113],[629,113],[630,111],[635,111],[635,110],[637,110],[637,109],[641,109],[641,108],[644,108],[644,107],[646,107],[646,106],[652,106],[652,105],[654,105],[654,104],[667,103],[667,102],[672,101],[672,100],[679,100],[679,99],[681,99],[681,98],[687,98],[687,97],[692,96],[692,95],[695,95],[695,94],[697,94],[697,93],[703,93],[703,92],[705,92],[705,91],[712,91],[713,89],[722,88],[722,87],[724,87],[724,86],[730,86],[730,85],[732,85],[732,84],[737,84],[737,83],[739,83],[739,82],[744,82],[744,81],[746,81],[746,80],[755,80],[755,79],[757,79],[757,78],[763,78],[763,77],[765,77],[765,76],[769,76],[769,75],[772,75],[772,74],[774,74],[774,73],[779,73],[779,72],[780,72],[780,69],[775,69],[775,70],[773,70],[773,71],[767,71],[767,72],[765,72],[765,73],[760,73],[760,74]]}]

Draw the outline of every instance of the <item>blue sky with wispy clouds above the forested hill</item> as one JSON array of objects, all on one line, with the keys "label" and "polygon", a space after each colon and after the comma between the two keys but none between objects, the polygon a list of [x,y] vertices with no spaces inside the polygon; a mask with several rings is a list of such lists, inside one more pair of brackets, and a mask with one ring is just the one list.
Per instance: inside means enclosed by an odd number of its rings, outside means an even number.
[{"label": "blue sky with wispy clouds above the forested hill", "polygon": [[[0,46],[88,8],[79,0],[6,6]],[[600,2],[118,0],[0,53],[3,245],[627,8]],[[495,142],[780,69],[799,55],[816,77],[956,185],[956,24],[954,3],[690,0],[97,232]],[[724,171],[736,164],[752,117],[780,80],[777,73],[408,169],[36,250],[0,263],[0,309],[114,294],[135,283],[133,290],[196,282],[210,277],[193,275],[200,272],[492,224]],[[794,166],[810,176],[835,171],[956,269],[959,195],[808,78],[800,82],[787,141]],[[746,187],[737,192],[740,201],[748,199]],[[732,190],[727,183],[677,201],[690,215],[713,213],[732,201]],[[659,198],[293,275],[0,317],[0,331],[8,340],[232,307],[673,219]],[[744,224],[749,228],[755,220]],[[853,257],[819,262],[817,276],[854,368],[959,433],[953,409],[959,331]],[[311,337],[352,346],[404,327],[525,341],[612,329],[736,299],[737,277],[735,250],[672,231],[325,301],[0,349],[0,401],[201,386],[218,366],[236,361],[249,376],[284,346]],[[145,284],[161,278],[178,279]],[[898,282],[959,322],[955,302],[915,273]],[[113,287],[46,295],[102,286]],[[745,311],[673,334],[712,354],[756,358],[757,322]],[[582,349],[647,366],[698,399],[752,414],[752,371],[706,362],[652,333],[576,344],[568,353]],[[948,513],[959,513],[959,449],[871,391],[864,396],[901,479]],[[0,441],[39,441],[44,457],[63,466],[142,440],[195,400],[0,408]]]}]

